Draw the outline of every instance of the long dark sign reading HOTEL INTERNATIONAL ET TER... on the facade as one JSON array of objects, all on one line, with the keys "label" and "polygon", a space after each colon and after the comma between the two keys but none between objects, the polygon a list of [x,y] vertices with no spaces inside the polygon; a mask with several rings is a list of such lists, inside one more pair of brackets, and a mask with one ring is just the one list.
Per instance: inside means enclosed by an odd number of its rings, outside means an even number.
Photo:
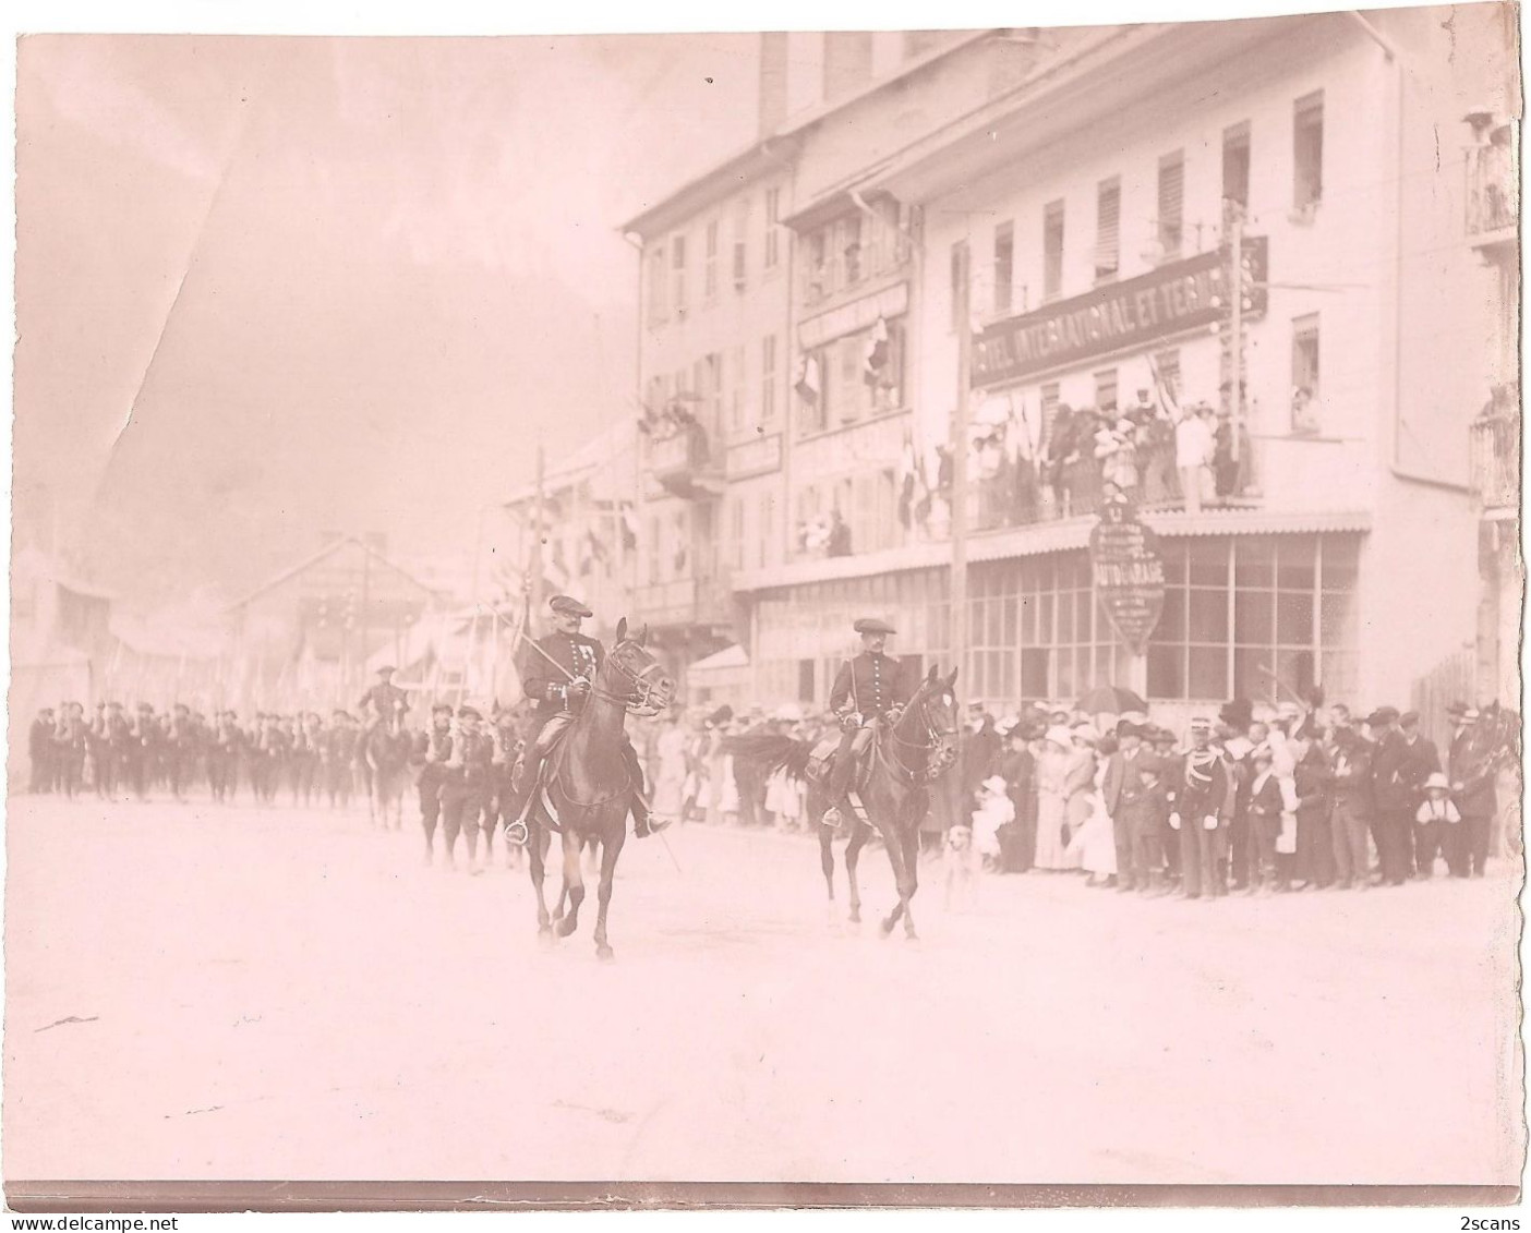
[{"label": "long dark sign reading HOTEL INTERNATIONAL ET TER... on the facade", "polygon": [[[1266,307],[1268,245],[1263,236],[1243,243],[1249,317]],[[1112,352],[1151,344],[1174,333],[1211,326],[1228,314],[1228,254],[1202,252],[1159,266],[1125,283],[997,321],[972,344],[972,386],[1003,386],[1032,373],[1064,369]]]}]

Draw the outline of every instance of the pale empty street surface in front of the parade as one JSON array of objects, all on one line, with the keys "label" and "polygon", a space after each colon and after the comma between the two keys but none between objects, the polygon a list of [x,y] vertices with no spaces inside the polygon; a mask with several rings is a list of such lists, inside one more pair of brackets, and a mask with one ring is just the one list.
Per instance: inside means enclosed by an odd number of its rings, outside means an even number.
[{"label": "pale empty street surface in front of the parade", "polygon": [[542,945],[525,874],[424,867],[413,809],[8,821],[11,1179],[1519,1178],[1503,863],[1214,904],[1032,874],[966,912],[931,869],[911,944],[880,851],[851,929],[810,840],[672,828],[678,870],[628,841],[600,964],[594,887]]}]

